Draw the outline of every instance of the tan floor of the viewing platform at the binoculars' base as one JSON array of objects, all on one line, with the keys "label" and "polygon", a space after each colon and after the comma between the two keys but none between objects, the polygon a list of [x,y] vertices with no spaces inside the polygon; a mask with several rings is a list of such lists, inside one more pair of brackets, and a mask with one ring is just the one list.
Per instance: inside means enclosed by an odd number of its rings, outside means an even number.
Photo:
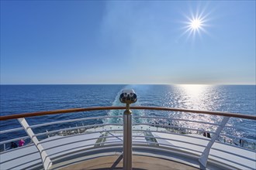
[{"label": "tan floor of the viewing platform at the binoculars' base", "polygon": [[[70,165],[61,170],[82,170],[82,169],[123,169],[122,155],[112,155],[100,158],[94,158],[81,162],[75,165]],[[195,170],[189,165],[184,165],[178,162],[172,162],[161,158],[152,158],[148,156],[133,155],[133,169],[182,169],[182,170]]]}]

